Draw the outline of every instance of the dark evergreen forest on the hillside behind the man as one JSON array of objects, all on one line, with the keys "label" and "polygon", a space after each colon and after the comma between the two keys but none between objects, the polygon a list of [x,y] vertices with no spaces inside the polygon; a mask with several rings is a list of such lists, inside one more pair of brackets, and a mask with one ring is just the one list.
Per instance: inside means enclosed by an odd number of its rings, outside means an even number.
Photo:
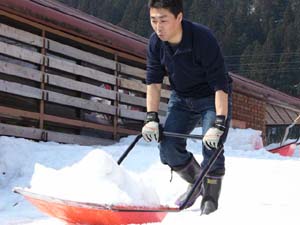
[{"label": "dark evergreen forest on the hillside behind the man", "polygon": [[[59,0],[146,38],[146,0]],[[184,17],[208,26],[228,70],[300,97],[300,0],[184,0]]]}]

